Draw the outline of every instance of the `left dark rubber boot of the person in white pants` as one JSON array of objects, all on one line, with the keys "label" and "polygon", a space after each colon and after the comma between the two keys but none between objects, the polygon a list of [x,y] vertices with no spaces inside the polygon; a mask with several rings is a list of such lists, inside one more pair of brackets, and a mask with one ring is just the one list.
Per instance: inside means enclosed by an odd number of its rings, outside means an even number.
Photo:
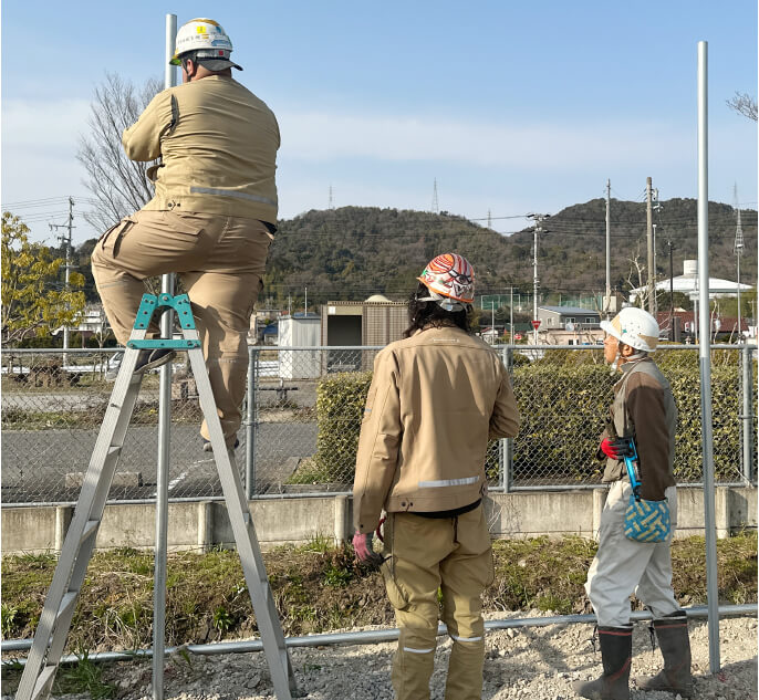
[{"label": "left dark rubber boot of the person in white pants", "polygon": [[589,700],[630,700],[633,626],[599,627],[599,642],[603,675],[596,680],[575,680],[574,692]]}]

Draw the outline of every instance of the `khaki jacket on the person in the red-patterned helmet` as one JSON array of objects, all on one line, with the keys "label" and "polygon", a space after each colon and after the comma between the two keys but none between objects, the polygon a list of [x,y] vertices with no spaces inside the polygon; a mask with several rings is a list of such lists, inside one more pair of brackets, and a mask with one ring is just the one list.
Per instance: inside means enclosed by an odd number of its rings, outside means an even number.
[{"label": "khaki jacket on the person in the red-patterned helmet", "polygon": [[488,439],[513,437],[519,411],[496,352],[458,327],[429,327],[374,361],[358,439],[354,525],[387,512],[462,508],[487,490]]}]

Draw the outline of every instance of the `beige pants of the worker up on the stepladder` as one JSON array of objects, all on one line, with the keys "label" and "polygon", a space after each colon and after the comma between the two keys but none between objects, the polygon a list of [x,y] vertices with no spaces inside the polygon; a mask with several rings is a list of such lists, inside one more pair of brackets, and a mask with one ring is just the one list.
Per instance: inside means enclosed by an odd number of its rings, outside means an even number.
[{"label": "beige pants of the worker up on the stepladder", "polygon": [[[227,446],[241,422],[250,315],[272,236],[256,219],[139,210],[108,229],[92,272],[116,339],[126,344],[145,278],[178,273],[193,304]],[[157,336],[157,324],[148,336]],[[209,439],[204,422],[204,438]]]}]

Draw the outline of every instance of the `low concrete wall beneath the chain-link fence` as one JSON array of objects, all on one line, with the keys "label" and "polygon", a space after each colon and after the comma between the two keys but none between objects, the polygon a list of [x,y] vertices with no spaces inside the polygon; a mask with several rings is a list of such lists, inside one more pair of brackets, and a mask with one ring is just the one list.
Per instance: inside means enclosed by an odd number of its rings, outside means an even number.
[{"label": "low concrete wall beneath the chain-link fence", "polygon": [[[704,492],[683,487],[678,493],[677,536],[704,533]],[[487,501],[493,537],[534,537],[575,534],[593,537],[597,531],[605,490],[531,491],[493,493]],[[263,547],[303,543],[316,535],[336,542],[352,537],[352,501],[344,495],[301,499],[260,499],[250,512]],[[716,490],[717,536],[726,537],[744,527],[757,526],[757,491],[750,488]],[[3,508],[2,553],[59,551],[73,506]],[[154,504],[114,504],[105,509],[96,547],[153,547]],[[223,502],[201,501],[169,504],[170,550],[231,546],[233,537]]]}]

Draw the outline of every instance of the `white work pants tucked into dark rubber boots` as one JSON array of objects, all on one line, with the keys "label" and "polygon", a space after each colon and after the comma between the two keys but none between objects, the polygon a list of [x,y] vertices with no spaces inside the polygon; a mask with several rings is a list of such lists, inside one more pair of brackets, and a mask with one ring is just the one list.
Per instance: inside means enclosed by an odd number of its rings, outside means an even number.
[{"label": "white work pants tucked into dark rubber boots", "polygon": [[677,490],[669,487],[665,491],[672,521],[666,542],[625,537],[624,518],[631,493],[628,481],[614,481],[601,515],[599,551],[585,583],[599,627],[624,627],[630,623],[632,593],[653,613],[654,619],[680,609],[672,588],[669,551],[677,526]]}]

